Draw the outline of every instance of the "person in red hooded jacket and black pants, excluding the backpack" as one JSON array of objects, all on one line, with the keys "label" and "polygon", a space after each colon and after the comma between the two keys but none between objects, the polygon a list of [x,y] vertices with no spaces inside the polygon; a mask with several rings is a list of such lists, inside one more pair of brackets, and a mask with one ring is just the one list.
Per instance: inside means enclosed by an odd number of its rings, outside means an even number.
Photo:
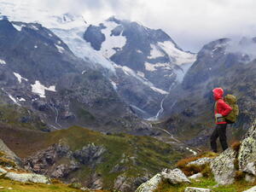
[{"label": "person in red hooded jacket and black pants, excluding the backpack", "polygon": [[226,128],[227,120],[224,118],[231,111],[232,108],[226,102],[224,102],[224,90],[222,88],[215,88],[212,90],[213,96],[215,99],[214,114],[215,114],[215,130],[212,132],[211,147],[214,153],[217,153],[217,143],[216,140],[219,137],[221,147],[223,150],[228,148],[227,137],[226,137]]}]

